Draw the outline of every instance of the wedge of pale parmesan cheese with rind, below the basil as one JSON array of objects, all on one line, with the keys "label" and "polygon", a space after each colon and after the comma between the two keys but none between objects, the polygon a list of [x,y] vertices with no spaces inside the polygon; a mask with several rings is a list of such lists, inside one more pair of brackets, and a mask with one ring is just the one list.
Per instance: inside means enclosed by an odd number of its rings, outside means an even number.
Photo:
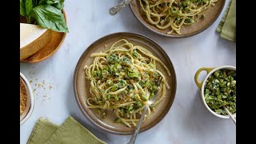
[{"label": "wedge of pale parmesan cheese with rind, below the basil", "polygon": [[20,60],[30,57],[50,41],[51,33],[38,25],[20,23]]}]

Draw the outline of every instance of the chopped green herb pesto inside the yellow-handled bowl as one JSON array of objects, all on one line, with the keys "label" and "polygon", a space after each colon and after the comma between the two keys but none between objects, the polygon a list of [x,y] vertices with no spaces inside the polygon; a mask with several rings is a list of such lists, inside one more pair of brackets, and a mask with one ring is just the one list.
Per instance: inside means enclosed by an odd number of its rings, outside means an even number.
[{"label": "chopped green herb pesto inside the yellow-handled bowl", "polygon": [[206,80],[204,97],[207,105],[217,114],[227,115],[223,106],[231,114],[236,112],[236,72],[217,70]]}]

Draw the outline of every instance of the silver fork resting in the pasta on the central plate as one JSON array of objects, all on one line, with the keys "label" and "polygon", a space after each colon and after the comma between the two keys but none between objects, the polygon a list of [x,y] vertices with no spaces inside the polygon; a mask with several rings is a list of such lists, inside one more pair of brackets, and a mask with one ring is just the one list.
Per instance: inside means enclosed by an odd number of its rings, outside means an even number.
[{"label": "silver fork resting in the pasta on the central plate", "polygon": [[[162,82],[162,77],[160,78],[160,82]],[[139,129],[141,128],[142,121],[143,121],[143,119],[144,119],[144,116],[145,116],[145,114],[146,114],[146,111],[147,111],[148,108],[150,108],[150,105],[151,105],[152,103],[154,103],[154,100],[155,100],[157,94],[158,94],[158,91],[154,94],[154,97],[151,98],[151,99],[146,103],[146,106],[145,106],[145,108],[144,108],[144,110],[143,110],[143,112],[142,112],[142,116],[141,116],[141,118],[139,118],[138,124],[137,124],[136,127],[135,127],[134,134],[132,134],[132,136],[131,136],[131,138],[130,138],[130,141],[129,141],[127,144],[134,144],[134,142],[135,142],[135,140],[136,140],[136,137],[137,137],[137,134],[138,134],[138,131],[139,131]]]}]

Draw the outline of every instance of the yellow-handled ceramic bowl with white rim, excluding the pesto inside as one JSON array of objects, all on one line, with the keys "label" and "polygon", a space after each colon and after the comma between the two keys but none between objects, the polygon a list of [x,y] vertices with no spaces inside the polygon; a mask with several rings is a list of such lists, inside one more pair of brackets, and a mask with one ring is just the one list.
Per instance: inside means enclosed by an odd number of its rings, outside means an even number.
[{"label": "yellow-handled ceramic bowl with white rim, excluding the pesto inside", "polygon": [[[210,107],[206,104],[206,100],[205,100],[205,97],[204,97],[204,89],[205,89],[205,85],[206,85],[206,80],[207,78],[209,78],[209,76],[211,74],[214,74],[215,71],[217,70],[224,70],[224,69],[227,69],[227,70],[236,70],[236,68],[234,66],[218,66],[218,67],[201,67],[200,69],[198,69],[198,71],[196,72],[196,74],[194,75],[194,82],[197,84],[198,86],[198,89],[201,91],[201,95],[200,95],[200,98],[202,100],[202,103],[204,106],[206,106],[206,109],[210,111],[211,114],[214,114],[215,116],[217,116],[218,118],[230,118],[229,115],[222,115],[222,114],[217,114],[214,112],[214,110],[211,110]],[[202,82],[199,82],[198,81],[198,76],[199,74],[205,70],[207,72],[207,75],[206,75],[206,78],[202,81]],[[236,113],[233,114],[233,117],[235,118],[236,117]]]}]

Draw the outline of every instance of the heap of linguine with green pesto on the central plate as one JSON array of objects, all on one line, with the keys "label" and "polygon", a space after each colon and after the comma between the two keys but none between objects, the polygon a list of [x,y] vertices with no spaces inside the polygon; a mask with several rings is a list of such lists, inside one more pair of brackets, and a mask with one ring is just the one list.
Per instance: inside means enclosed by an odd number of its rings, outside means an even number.
[{"label": "heap of linguine with green pesto on the central plate", "polygon": [[[113,110],[117,116],[115,122],[136,126],[148,100],[154,94],[159,97],[146,115],[154,111],[154,106],[165,97],[166,88],[170,88],[164,74],[157,70],[156,62],[170,76],[166,65],[146,48],[134,46],[126,39],[118,40],[110,48],[90,54],[90,57],[94,62],[84,67],[86,78],[90,80],[90,98],[86,103],[100,113],[101,110]],[[104,117],[106,113],[102,114]]]}]

